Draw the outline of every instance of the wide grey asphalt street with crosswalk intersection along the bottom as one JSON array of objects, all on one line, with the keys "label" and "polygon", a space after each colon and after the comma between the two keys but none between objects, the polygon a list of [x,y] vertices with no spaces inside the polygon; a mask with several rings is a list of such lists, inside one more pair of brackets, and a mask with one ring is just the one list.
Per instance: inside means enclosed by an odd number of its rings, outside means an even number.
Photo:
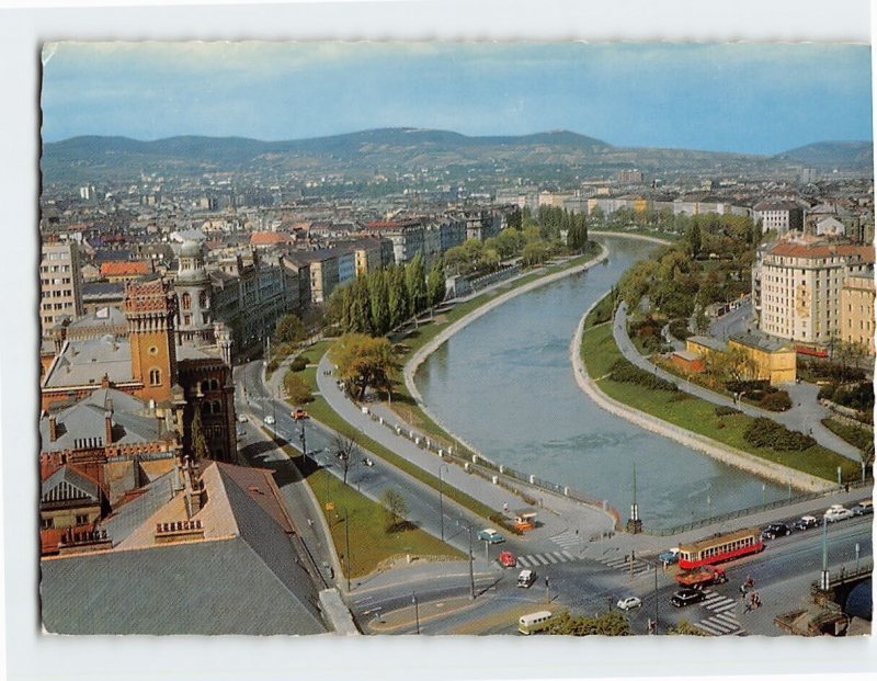
[{"label": "wide grey asphalt street with crosswalk intersection along the bottom", "polygon": [[[260,440],[253,430],[258,425],[273,431],[281,443],[288,443],[300,451],[304,425],[308,455],[341,477],[341,466],[333,455],[337,449],[334,433],[314,420],[296,422],[292,419],[288,406],[271,396],[262,383],[261,362],[239,367],[236,382],[239,413],[248,415],[250,419],[244,427],[247,434],[241,443],[243,452],[253,451],[249,447]],[[275,419],[273,427],[262,422],[267,416]],[[371,419],[368,421],[374,423]],[[391,434],[388,429],[384,430]],[[264,435],[261,435],[258,451],[258,456],[249,457],[250,463],[274,467],[288,461],[276,443],[272,446]],[[409,502],[412,522],[435,536],[444,533],[448,544],[467,553],[469,536],[466,526],[470,525],[477,532],[488,523],[449,502],[446,497],[440,502],[436,490],[379,457],[369,457],[373,466],[362,465],[360,461],[350,467],[348,480],[351,486],[373,500],[377,500],[388,486],[399,489]],[[491,487],[485,480],[479,480],[479,484]],[[323,501],[319,498],[320,490],[314,490],[308,499],[309,495],[303,491],[304,485],[294,490],[286,478],[278,479],[278,485],[306,545],[318,556],[318,561],[334,565],[335,578],[340,577],[337,557],[330,555],[326,535],[320,532],[320,523],[307,523],[304,526],[303,515],[311,520],[319,518],[320,510],[314,501],[315,497],[318,502]],[[858,492],[861,496],[862,492]],[[847,499],[842,501],[850,502]],[[827,500],[816,500],[809,506],[813,509],[824,507]],[[440,521],[440,507],[444,510],[444,526]],[[785,514],[782,509],[765,512],[752,522],[786,520],[786,515],[787,520],[794,520],[797,515],[790,513],[798,513],[801,508],[789,508]],[[832,569],[836,570],[842,565],[852,569],[856,544],[859,545],[859,560],[870,558],[869,521],[870,518],[866,517],[829,527],[829,564]],[[710,588],[704,603],[685,609],[673,608],[670,597],[677,587],[672,578],[672,569],[667,572],[660,567],[656,569],[657,553],[662,547],[675,545],[680,540],[707,536],[716,530],[702,529],[665,538],[618,534],[599,542],[586,541],[584,536],[567,531],[555,537],[509,536],[506,542],[497,546],[478,542],[474,536],[471,581],[465,560],[414,564],[353,580],[345,599],[366,633],[412,634],[419,629],[429,634],[511,634],[516,632],[517,617],[526,612],[547,608],[599,614],[614,608],[622,597],[637,595],[642,600],[641,608],[626,613],[635,633],[647,632],[649,620],[656,616],[657,609],[661,633],[670,624],[686,620],[715,635],[781,634],[773,624],[773,617],[793,606],[804,606],[809,584],[818,578],[822,556],[821,530],[774,540],[763,554],[730,564],[729,582]],[[502,569],[499,566],[497,556],[501,549],[510,549],[519,557],[517,568]],[[636,553],[633,561],[628,558],[631,551]],[[534,569],[537,574],[535,583],[528,589],[516,586],[517,572],[522,567]],[[761,609],[748,613],[743,612],[743,604],[736,591],[738,582],[745,575],[756,580],[763,602]],[[329,575],[326,577],[329,579]],[[341,590],[345,586],[343,579],[337,579],[337,584]],[[475,600],[470,599],[472,586]]]}]

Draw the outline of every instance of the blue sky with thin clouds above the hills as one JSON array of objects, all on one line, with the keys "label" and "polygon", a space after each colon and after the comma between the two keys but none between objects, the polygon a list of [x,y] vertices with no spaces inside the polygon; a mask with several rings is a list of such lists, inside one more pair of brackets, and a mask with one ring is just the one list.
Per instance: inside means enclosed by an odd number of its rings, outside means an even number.
[{"label": "blue sky with thin clouds above the hills", "polygon": [[43,137],[570,129],[774,154],[872,138],[870,49],[818,44],[59,43]]}]

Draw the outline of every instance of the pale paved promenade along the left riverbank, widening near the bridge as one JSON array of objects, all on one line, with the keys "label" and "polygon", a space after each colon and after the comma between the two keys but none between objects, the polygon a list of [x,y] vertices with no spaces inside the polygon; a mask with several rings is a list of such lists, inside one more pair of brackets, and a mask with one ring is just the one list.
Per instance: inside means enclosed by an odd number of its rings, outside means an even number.
[{"label": "pale paved promenade along the left riverbank, widening near the bridge", "polygon": [[[328,357],[321,357],[317,370],[317,386],[329,406],[360,432],[437,477],[438,468],[443,465],[438,455],[422,450],[407,438],[397,435],[387,425],[363,413],[361,407],[353,404],[339,388],[335,378],[327,374],[331,368]],[[412,429],[409,427],[408,430]],[[502,512],[505,504],[510,511],[524,506],[521,498],[508,489],[493,485],[478,475],[466,473],[449,462],[442,468],[442,479],[448,487],[459,489],[499,512]],[[529,493],[543,501],[543,512],[538,517],[543,525],[525,533],[521,537],[522,541],[547,540],[569,532],[574,534],[577,530],[581,536],[589,537],[613,529],[613,521],[602,510],[540,490],[534,489]]]}]

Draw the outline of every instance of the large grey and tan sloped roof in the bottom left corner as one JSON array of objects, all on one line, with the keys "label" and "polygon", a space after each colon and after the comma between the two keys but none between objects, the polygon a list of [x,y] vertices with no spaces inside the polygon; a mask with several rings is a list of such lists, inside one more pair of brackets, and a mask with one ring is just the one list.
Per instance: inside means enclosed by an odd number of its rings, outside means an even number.
[{"label": "large grey and tan sloped roof in the bottom left corner", "polygon": [[[207,503],[193,519],[202,520],[205,540],[147,545],[143,529],[155,527],[159,509],[117,549],[44,558],[46,628],[61,634],[326,632],[317,587],[301,557],[265,500],[249,489],[270,488],[270,478],[234,468],[212,464],[202,475]],[[181,501],[176,495],[162,508],[179,512]]]}]

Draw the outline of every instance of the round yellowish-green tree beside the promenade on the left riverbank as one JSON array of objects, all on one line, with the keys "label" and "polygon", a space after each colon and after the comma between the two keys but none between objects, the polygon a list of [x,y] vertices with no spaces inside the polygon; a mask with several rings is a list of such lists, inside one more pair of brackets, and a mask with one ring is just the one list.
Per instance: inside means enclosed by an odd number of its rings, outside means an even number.
[{"label": "round yellowish-green tree beside the promenade on the left riverbank", "polygon": [[365,397],[369,388],[384,390],[391,399],[399,361],[386,338],[345,333],[332,344],[329,359],[338,366],[337,375],[354,399]]}]

